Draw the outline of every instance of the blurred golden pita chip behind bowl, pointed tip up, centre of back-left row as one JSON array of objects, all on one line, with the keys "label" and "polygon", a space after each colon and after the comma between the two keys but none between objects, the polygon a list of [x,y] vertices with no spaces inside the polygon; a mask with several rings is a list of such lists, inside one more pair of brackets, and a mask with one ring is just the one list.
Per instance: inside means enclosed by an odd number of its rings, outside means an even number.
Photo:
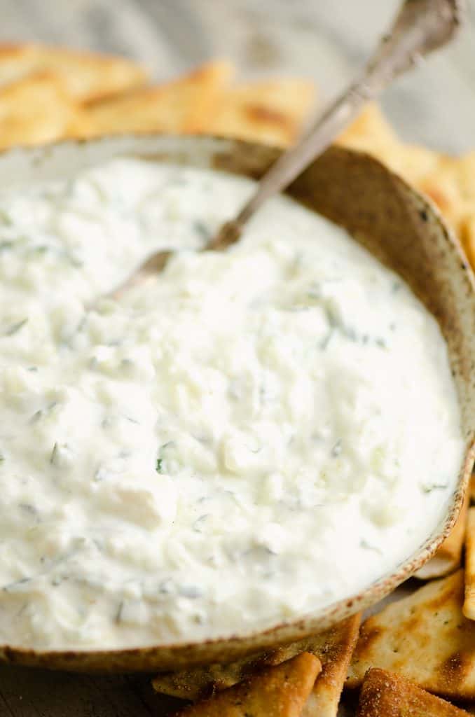
[{"label": "blurred golden pita chip behind bowl, pointed tip up, centre of back-left row", "polygon": [[216,95],[230,80],[227,62],[210,62],[178,80],[87,103],[78,136],[128,132],[194,133],[203,130]]}]

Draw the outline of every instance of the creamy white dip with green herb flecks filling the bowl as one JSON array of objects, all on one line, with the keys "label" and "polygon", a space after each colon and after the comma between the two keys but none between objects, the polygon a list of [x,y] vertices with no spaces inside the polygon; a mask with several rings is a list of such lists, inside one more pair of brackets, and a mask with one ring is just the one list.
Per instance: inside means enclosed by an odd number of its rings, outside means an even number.
[{"label": "creamy white dip with green herb flecks filling the bowl", "polygon": [[[0,644],[245,634],[420,546],[463,442],[400,278],[253,182],[119,158],[0,198]],[[118,302],[159,247],[184,248]]]}]

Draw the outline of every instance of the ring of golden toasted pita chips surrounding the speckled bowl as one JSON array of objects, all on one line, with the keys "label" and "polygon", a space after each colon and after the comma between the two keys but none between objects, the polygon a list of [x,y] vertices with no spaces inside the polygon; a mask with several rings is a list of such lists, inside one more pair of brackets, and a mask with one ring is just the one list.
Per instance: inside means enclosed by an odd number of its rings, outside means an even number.
[{"label": "ring of golden toasted pita chips surrounding the speckled bowl", "polygon": [[[0,46],[0,148],[147,132],[207,133],[286,147],[308,122],[314,98],[307,80],[240,82],[223,61],[151,85],[142,67],[122,57],[39,44]],[[475,265],[475,151],[450,157],[405,144],[377,105],[368,105],[339,142],[375,155],[428,194]],[[156,692],[187,701],[180,717],[337,717],[344,686],[350,694],[360,689],[358,717],[466,715],[444,698],[475,703],[470,498],[475,503],[474,481],[451,536],[418,572],[430,581],[387,604],[361,630],[357,615],[230,665],[157,675]]]}]

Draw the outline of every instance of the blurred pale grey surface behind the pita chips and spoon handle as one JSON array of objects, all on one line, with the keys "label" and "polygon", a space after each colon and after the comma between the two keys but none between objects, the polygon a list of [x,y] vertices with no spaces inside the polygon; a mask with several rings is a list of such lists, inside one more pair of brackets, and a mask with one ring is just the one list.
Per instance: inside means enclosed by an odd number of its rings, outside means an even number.
[{"label": "blurred pale grey surface behind the pita chips and spoon handle", "polygon": [[[243,76],[316,80],[331,98],[362,65],[398,0],[0,0],[0,41],[128,54],[158,80],[210,57]],[[383,104],[410,141],[475,147],[475,0],[453,47],[399,80]]]}]

